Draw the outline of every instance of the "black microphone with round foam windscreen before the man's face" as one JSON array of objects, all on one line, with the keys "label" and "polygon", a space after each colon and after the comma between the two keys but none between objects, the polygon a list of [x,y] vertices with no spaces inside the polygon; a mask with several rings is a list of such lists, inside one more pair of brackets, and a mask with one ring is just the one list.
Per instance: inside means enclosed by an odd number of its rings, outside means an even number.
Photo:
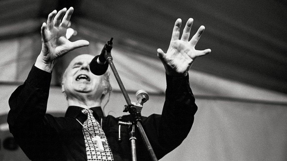
[{"label": "black microphone with round foam windscreen before the man's face", "polygon": [[94,57],[94,59],[90,63],[90,70],[95,75],[103,75],[109,67],[109,63],[106,62],[105,55],[110,53],[113,48],[113,39],[107,41],[104,45],[103,50],[101,51],[100,55]]}]

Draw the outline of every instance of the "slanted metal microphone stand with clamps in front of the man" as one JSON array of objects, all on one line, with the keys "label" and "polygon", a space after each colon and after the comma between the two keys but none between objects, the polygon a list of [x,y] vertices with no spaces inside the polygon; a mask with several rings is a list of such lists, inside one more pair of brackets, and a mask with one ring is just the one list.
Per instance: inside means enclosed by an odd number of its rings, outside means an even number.
[{"label": "slanted metal microphone stand with clamps in front of the man", "polygon": [[[111,38],[110,41],[108,41],[107,43],[112,43],[111,41],[113,40],[113,38]],[[140,113],[141,111],[141,108],[137,105],[134,105],[132,104],[131,102],[131,99],[129,98],[129,95],[128,93],[126,92],[126,89],[124,87],[124,84],[123,82],[121,81],[121,78],[116,70],[116,67],[113,63],[113,58],[111,56],[111,52],[107,52],[105,51],[105,59],[107,62],[109,62],[109,65],[111,67],[111,70],[113,71],[114,73],[114,76],[119,84],[119,87],[124,95],[124,98],[126,100],[126,103],[128,105],[125,105],[124,106],[124,111],[123,112],[129,112],[132,117],[133,117],[133,120],[132,122],[122,122],[122,121],[119,121],[119,125],[125,125],[125,126],[129,126],[129,130],[130,130],[130,141],[131,141],[131,154],[132,154],[132,160],[133,161],[136,161],[136,136],[135,136],[135,125],[138,127],[139,129],[139,132],[141,134],[141,137],[146,145],[146,148],[152,158],[153,161],[157,161],[157,158],[156,158],[156,155],[153,151],[153,148],[151,147],[151,144],[150,142],[148,141],[148,138],[146,136],[146,133],[144,132],[143,130],[143,126],[142,126],[142,120],[141,120],[141,117],[139,117],[138,113]],[[141,105],[146,102],[147,99],[145,97],[143,97],[143,99],[141,100]],[[142,107],[142,106],[141,106]]]}]

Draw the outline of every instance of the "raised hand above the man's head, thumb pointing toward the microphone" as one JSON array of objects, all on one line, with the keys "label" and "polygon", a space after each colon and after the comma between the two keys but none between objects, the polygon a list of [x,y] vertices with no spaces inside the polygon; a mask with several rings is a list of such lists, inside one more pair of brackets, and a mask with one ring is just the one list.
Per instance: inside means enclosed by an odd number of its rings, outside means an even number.
[{"label": "raised hand above the man's head, thumb pointing toward the microphone", "polygon": [[36,60],[36,67],[51,72],[57,58],[71,50],[89,45],[86,40],[71,42],[66,38],[66,31],[73,11],[73,7],[70,7],[68,11],[64,8],[58,13],[54,10],[49,14],[47,23],[43,23],[41,27],[42,50]]}]

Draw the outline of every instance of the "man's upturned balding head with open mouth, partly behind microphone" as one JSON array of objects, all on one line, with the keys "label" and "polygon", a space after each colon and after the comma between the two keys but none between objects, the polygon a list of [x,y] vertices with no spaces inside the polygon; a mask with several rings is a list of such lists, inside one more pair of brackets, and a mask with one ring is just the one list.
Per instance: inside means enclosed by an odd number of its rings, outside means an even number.
[{"label": "man's upturned balding head with open mouth, partly behind microphone", "polygon": [[77,97],[79,95],[101,97],[104,91],[103,76],[91,73],[89,64],[94,58],[92,55],[79,55],[75,57],[66,69],[62,82],[62,91],[66,95]]}]

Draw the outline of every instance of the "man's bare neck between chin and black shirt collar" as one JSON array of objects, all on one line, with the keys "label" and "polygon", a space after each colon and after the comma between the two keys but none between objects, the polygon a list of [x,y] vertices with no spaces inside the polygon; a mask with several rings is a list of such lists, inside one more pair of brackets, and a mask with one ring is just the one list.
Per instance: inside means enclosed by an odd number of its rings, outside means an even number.
[{"label": "man's bare neck between chin and black shirt collar", "polygon": [[79,106],[85,109],[101,106],[101,99],[94,100],[85,97],[81,98],[67,97],[67,101],[69,106]]}]

